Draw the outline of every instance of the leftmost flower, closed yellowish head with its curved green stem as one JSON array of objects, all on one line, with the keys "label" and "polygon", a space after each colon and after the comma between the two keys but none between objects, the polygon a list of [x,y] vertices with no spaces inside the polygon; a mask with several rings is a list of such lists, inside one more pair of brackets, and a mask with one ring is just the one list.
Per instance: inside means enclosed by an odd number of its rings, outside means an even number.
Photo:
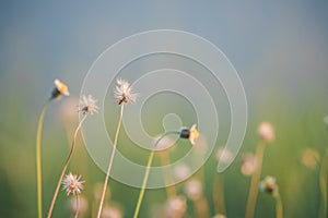
[{"label": "leftmost flower, closed yellowish head with its curved green stem", "polygon": [[42,187],[42,132],[43,132],[43,124],[46,114],[46,110],[48,108],[49,102],[54,98],[59,98],[61,95],[69,95],[68,87],[59,80],[55,80],[55,89],[52,90],[50,98],[46,100],[43,106],[38,123],[37,123],[37,132],[36,132],[36,189],[37,189],[37,216],[38,218],[43,217],[43,187]]}]

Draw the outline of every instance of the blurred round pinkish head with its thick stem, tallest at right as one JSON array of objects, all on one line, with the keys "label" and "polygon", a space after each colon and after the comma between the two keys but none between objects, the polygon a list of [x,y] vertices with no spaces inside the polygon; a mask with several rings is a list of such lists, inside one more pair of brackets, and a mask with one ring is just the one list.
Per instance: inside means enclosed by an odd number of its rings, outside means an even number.
[{"label": "blurred round pinkish head with its thick stem, tallest at right", "polygon": [[261,175],[261,167],[262,167],[262,159],[263,159],[266,144],[272,143],[276,137],[273,126],[269,122],[260,123],[260,125],[258,128],[258,134],[259,134],[260,140],[259,140],[258,146],[256,148],[256,153],[255,153],[255,160],[257,164],[257,168],[254,171],[254,173],[251,174],[250,189],[249,189],[247,207],[246,207],[246,218],[254,217],[256,199],[257,199],[257,194],[258,194],[258,184],[259,184],[259,179]]}]

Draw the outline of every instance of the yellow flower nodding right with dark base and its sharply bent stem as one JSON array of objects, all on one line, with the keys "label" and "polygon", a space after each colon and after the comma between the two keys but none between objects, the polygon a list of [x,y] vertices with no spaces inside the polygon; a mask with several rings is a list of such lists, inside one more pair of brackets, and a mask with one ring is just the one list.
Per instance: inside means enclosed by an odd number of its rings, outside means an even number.
[{"label": "yellow flower nodding right with dark base and its sharply bent stem", "polygon": [[[196,140],[199,136],[199,133],[198,133],[198,131],[196,129],[196,124],[194,124],[190,129],[181,129],[180,131],[169,131],[169,132],[164,133],[155,142],[154,148],[156,148],[156,146],[159,145],[159,143],[165,136],[171,135],[171,134],[178,134],[180,138],[188,138],[189,142],[192,145],[195,145]],[[149,179],[150,168],[151,168],[151,165],[152,165],[153,158],[154,158],[154,153],[155,153],[155,150],[152,149],[152,152],[150,153],[150,156],[148,158],[148,164],[147,164],[147,167],[145,167],[145,173],[144,173],[144,177],[143,177],[142,186],[141,186],[141,191],[139,193],[139,197],[138,197],[137,206],[136,206],[136,209],[134,209],[133,218],[138,218],[138,215],[139,215],[139,211],[140,211],[141,203],[142,203],[142,199],[143,199],[143,196],[144,196],[144,192],[145,192],[145,185],[147,185],[147,182],[148,182],[148,179]]]}]

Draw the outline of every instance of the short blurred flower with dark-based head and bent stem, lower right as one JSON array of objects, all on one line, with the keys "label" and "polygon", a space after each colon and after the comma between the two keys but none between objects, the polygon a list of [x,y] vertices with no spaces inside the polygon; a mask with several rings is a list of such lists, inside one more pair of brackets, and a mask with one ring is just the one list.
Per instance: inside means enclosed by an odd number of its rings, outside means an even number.
[{"label": "short blurred flower with dark-based head and bent stem, lower right", "polygon": [[273,177],[266,177],[262,181],[259,183],[259,190],[266,193],[269,193],[273,196],[276,199],[276,217],[282,218],[283,217],[283,209],[282,209],[282,202],[279,194],[279,187],[276,183],[276,178]]}]

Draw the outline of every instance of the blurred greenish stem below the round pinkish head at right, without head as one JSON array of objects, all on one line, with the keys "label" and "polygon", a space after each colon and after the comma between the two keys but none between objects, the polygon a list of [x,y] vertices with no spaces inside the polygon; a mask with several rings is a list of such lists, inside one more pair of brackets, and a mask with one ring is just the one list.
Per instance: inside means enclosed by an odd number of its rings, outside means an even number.
[{"label": "blurred greenish stem below the round pinkish head at right, without head", "polygon": [[254,217],[256,199],[257,199],[257,194],[258,194],[258,183],[259,183],[259,179],[261,175],[261,167],[262,167],[265,148],[266,148],[265,142],[259,141],[259,144],[257,146],[256,154],[255,154],[255,158],[257,160],[257,169],[255,170],[255,172],[251,175],[249,195],[248,195],[247,208],[246,208],[246,218]]}]

